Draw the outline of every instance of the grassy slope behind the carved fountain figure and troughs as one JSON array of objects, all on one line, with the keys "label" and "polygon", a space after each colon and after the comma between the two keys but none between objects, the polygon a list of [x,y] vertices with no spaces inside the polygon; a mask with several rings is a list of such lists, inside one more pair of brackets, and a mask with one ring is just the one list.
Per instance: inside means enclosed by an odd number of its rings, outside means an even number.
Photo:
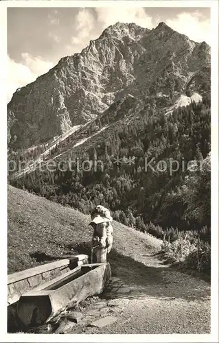
[{"label": "grassy slope behind the carved fountain figure and troughs", "polygon": [[[161,241],[113,222],[113,250],[109,261],[115,274],[118,261],[136,252],[141,259],[157,250]],[[62,259],[72,253],[89,253],[92,235],[89,216],[27,191],[8,187],[8,274]],[[125,272],[125,271],[124,271]]]}]

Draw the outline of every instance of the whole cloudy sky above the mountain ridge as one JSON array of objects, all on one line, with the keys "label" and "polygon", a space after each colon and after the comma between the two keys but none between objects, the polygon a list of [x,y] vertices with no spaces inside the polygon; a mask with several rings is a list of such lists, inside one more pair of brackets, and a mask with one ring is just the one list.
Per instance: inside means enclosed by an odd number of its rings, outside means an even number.
[{"label": "whole cloudy sky above the mountain ridge", "polygon": [[80,52],[109,25],[163,21],[196,42],[211,44],[210,8],[8,8],[8,101],[63,56]]}]

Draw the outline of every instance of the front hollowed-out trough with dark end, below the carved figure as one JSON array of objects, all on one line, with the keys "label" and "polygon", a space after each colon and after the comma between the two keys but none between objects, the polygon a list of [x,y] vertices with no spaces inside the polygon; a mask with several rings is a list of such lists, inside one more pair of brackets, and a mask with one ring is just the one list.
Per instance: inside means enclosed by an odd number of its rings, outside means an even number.
[{"label": "front hollowed-out trough with dark end, below the carved figure", "polygon": [[89,296],[101,294],[111,279],[109,263],[83,264],[25,292],[17,316],[24,327],[38,327]]}]

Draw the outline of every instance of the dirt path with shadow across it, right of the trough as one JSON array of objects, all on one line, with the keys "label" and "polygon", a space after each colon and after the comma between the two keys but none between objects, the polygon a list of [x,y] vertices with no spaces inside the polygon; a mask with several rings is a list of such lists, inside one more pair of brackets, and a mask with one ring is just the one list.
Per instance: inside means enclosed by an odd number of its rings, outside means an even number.
[{"label": "dirt path with shadow across it, right of the trough", "polygon": [[[106,292],[89,307],[86,301],[82,303],[78,310],[83,319],[66,326],[66,332],[209,333],[209,283],[164,265],[154,255],[159,240],[155,239],[154,246],[154,237],[136,231],[133,237],[132,229],[128,234],[133,244],[129,254],[114,250],[109,256],[113,279]],[[117,320],[106,327],[91,327],[93,321],[106,316]]]}]

